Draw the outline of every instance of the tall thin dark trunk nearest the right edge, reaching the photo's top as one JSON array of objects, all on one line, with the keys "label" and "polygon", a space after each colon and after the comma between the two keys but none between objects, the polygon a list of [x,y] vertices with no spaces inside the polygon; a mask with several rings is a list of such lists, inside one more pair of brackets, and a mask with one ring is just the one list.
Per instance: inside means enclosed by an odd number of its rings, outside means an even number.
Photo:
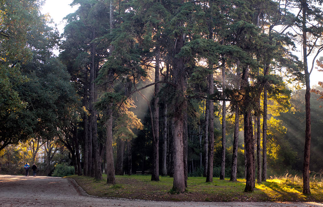
[{"label": "tall thin dark trunk nearest the right edge, reaching the photo's top", "polygon": [[304,163],[303,163],[303,194],[311,194],[309,188],[309,156],[311,145],[311,107],[310,107],[310,82],[307,66],[307,27],[306,27],[306,12],[307,12],[307,0],[302,0],[303,4],[303,64],[305,73],[305,113],[306,113],[306,128],[305,128],[305,149],[304,149]]}]

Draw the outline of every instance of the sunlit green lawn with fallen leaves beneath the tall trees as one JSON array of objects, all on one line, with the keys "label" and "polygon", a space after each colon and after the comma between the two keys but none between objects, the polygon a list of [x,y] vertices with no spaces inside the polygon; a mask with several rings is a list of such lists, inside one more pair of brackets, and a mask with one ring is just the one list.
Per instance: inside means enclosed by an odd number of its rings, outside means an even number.
[{"label": "sunlit green lawn with fallen leaves beneath the tall trees", "polygon": [[245,179],[236,182],[213,178],[206,183],[205,178],[189,177],[184,193],[171,191],[173,178],[160,177],[160,181],[151,181],[151,175],[116,176],[116,185],[107,185],[107,175],[103,181],[84,176],[68,176],[90,195],[143,199],[155,201],[323,201],[322,179],[311,182],[311,195],[302,194],[303,181],[296,176],[267,179],[256,184],[253,193],[245,193]]}]

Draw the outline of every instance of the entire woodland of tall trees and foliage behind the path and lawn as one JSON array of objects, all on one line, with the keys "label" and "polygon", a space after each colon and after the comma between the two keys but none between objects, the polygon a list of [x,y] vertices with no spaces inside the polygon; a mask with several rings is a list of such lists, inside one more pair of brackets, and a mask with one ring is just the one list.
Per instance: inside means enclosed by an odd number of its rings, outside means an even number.
[{"label": "entire woodland of tall trees and foliage behind the path and lawn", "polygon": [[1,0],[0,173],[322,174],[320,3],[74,0],[59,35],[42,1]]}]

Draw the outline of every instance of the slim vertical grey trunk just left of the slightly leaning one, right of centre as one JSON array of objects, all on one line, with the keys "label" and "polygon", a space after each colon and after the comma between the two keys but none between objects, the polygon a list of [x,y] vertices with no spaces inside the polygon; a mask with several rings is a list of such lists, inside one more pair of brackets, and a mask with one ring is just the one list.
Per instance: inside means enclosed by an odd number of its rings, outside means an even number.
[{"label": "slim vertical grey trunk just left of the slightly leaning one, right of centre", "polygon": [[[222,66],[222,98],[225,99],[225,64],[223,61]],[[221,171],[220,171],[220,180],[224,180],[225,172],[225,100],[222,101],[222,154],[221,154]]]}]

